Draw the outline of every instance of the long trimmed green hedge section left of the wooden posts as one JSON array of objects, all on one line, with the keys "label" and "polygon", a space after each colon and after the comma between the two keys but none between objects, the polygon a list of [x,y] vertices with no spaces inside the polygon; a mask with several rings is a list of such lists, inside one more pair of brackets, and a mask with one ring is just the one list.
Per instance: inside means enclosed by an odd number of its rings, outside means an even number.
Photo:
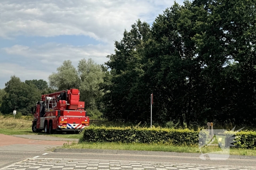
[{"label": "long trimmed green hedge section left of the wooden posts", "polygon": [[83,142],[159,143],[198,146],[199,131],[189,129],[90,126],[84,130]]}]

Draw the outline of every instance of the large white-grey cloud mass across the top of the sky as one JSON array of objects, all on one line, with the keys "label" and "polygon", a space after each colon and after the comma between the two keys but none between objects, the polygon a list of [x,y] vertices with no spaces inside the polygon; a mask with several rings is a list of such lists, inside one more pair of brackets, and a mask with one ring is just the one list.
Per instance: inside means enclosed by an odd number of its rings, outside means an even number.
[{"label": "large white-grey cloud mass across the top of the sky", "polygon": [[113,42],[136,19],[151,22],[163,6],[172,4],[167,0],[2,0],[0,36],[87,35]]}]

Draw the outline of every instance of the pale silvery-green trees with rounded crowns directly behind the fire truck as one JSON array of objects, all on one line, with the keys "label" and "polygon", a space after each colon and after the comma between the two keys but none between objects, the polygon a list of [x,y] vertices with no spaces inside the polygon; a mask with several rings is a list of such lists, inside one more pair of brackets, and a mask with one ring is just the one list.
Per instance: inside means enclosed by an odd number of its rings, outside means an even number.
[{"label": "pale silvery-green trees with rounded crowns directly behind the fire truck", "polygon": [[99,116],[100,99],[103,91],[99,84],[103,83],[104,70],[106,68],[95,63],[91,58],[81,59],[76,69],[70,60],[64,61],[62,66],[57,68],[57,73],[49,76],[50,87],[56,90],[78,88],[80,101],[85,102],[85,108],[97,113]]}]

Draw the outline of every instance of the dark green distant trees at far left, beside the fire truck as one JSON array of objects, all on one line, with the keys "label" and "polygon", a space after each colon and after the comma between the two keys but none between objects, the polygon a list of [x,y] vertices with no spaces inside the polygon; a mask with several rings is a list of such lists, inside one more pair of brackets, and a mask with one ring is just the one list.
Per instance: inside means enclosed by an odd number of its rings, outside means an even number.
[{"label": "dark green distant trees at far left, beside the fire truck", "polygon": [[11,76],[5,83],[5,88],[0,89],[0,111],[10,114],[15,109],[23,115],[29,115],[30,108],[41,99],[41,94],[51,93],[54,90],[48,87],[45,80],[25,80]]}]

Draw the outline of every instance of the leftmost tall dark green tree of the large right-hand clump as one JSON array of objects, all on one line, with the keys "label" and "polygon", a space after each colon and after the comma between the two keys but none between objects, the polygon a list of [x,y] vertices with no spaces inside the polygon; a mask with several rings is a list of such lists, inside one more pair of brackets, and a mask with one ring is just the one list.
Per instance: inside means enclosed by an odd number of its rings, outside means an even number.
[{"label": "leftmost tall dark green tree of the large right-hand clump", "polygon": [[[138,20],[132,25],[131,31],[124,31],[124,37],[120,42],[115,42],[115,54],[107,56],[110,60],[106,65],[111,71],[106,72],[102,88],[105,94],[104,113],[109,120],[127,122],[144,119],[140,116],[141,110],[138,109],[138,105],[145,102],[142,102],[141,97],[138,96],[144,97],[150,93],[144,94],[142,91],[136,95],[132,87],[139,85],[138,79],[143,74],[140,54],[143,53],[143,43],[150,37],[149,31],[149,24]],[[142,86],[144,87],[145,84],[143,83]]]}]

